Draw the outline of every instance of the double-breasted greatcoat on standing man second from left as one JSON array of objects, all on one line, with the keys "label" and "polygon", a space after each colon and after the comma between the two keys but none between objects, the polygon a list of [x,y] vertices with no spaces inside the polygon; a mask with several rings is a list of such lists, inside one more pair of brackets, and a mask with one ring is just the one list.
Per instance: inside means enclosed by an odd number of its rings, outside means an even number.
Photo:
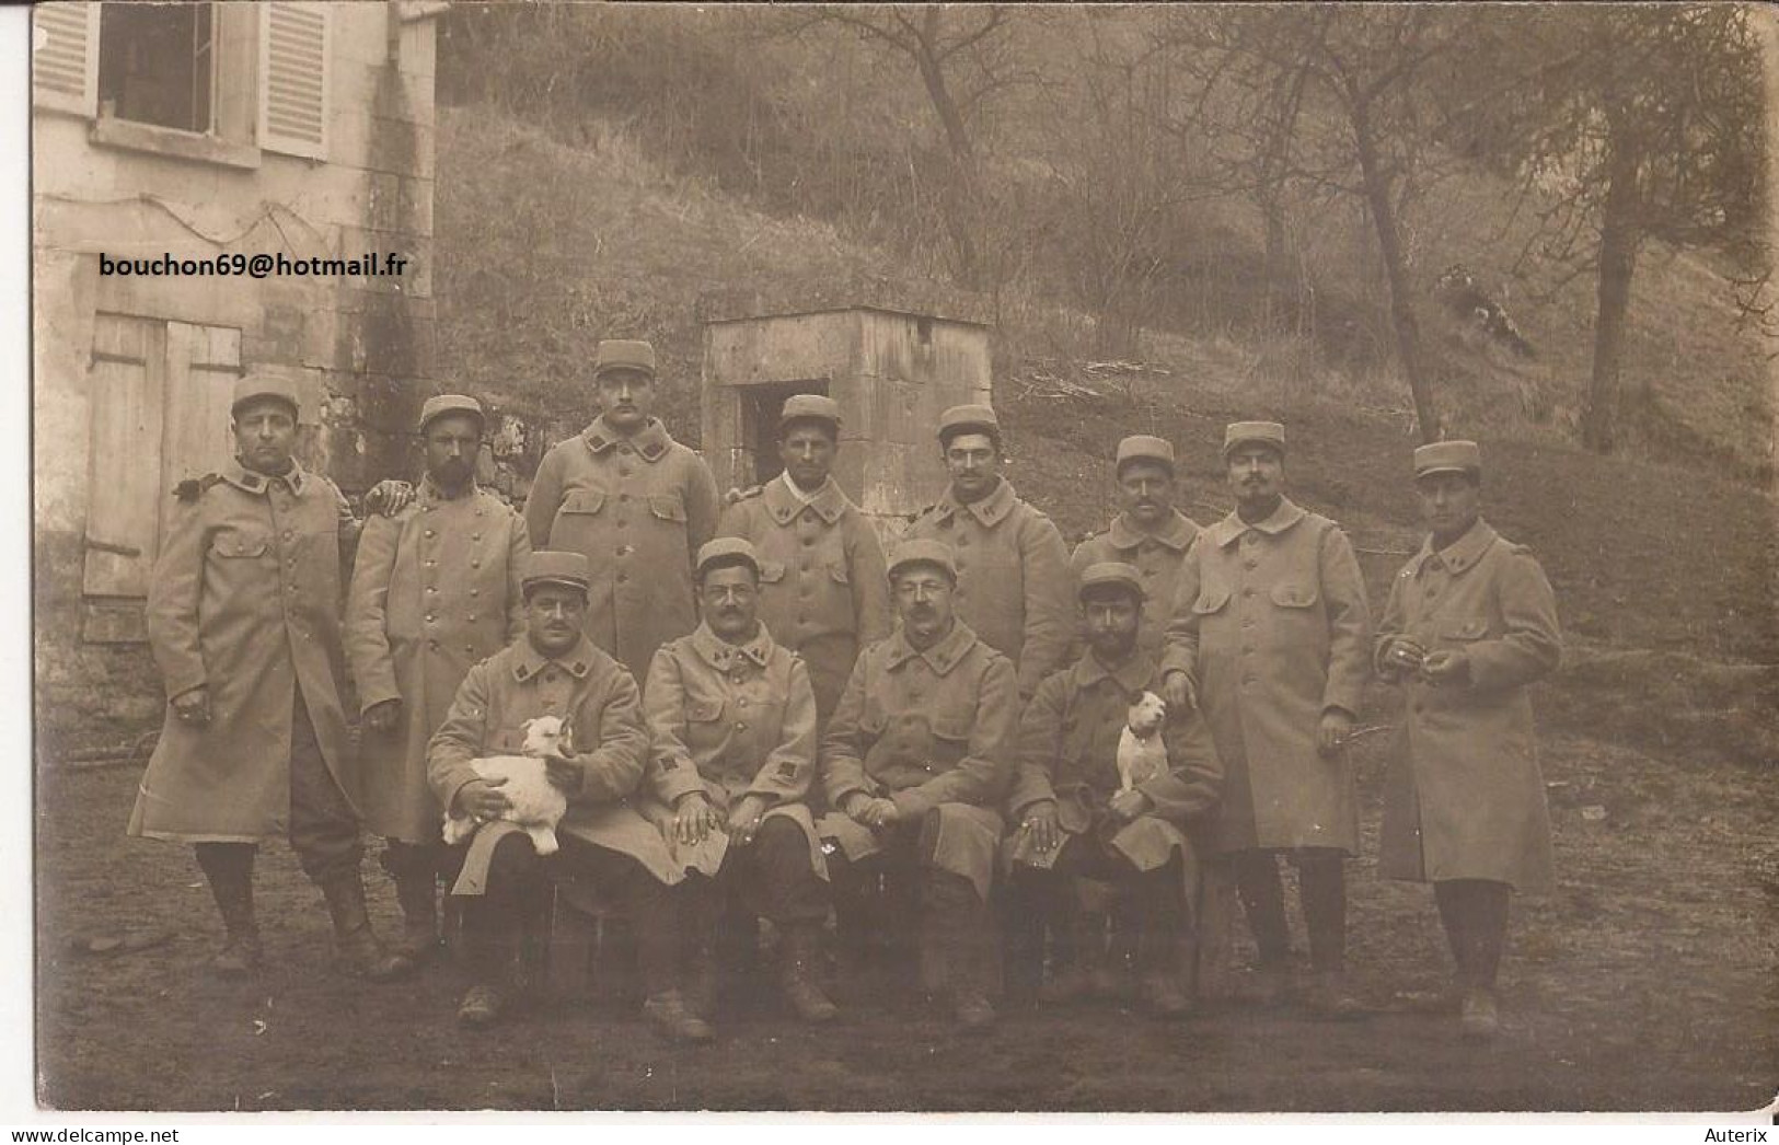
[{"label": "double-breasted greatcoat on standing man second from left", "polygon": [[493,492],[447,498],[431,478],[395,517],[359,537],[345,605],[345,651],[361,711],[402,701],[397,729],[359,729],[365,825],[386,839],[431,843],[439,805],[427,788],[427,741],[470,665],[525,631],[519,569],[525,521]]}]

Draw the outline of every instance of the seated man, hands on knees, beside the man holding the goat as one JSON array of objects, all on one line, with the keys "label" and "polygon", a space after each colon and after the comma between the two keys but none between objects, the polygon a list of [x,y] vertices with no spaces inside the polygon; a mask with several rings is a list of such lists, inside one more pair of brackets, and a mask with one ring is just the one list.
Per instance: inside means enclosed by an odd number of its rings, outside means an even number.
[{"label": "seated man, hands on knees, beside the man holding the goat", "polygon": [[779,971],[792,1010],[825,1022],[836,1010],[815,983],[827,864],[809,818],[815,781],[815,692],[802,660],[758,619],[760,558],[740,537],[697,551],[703,621],[649,665],[648,788],[687,880],[687,1003],[710,1017],[717,932],[726,916],[765,916],[779,933]]}]

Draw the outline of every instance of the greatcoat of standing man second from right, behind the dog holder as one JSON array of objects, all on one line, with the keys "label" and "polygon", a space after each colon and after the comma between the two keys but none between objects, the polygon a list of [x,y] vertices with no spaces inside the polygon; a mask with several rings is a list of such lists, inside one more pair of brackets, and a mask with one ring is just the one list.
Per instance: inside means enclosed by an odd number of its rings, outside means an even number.
[{"label": "greatcoat of standing man second from right, behind the dog holder", "polygon": [[1229,514],[1185,565],[1162,670],[1195,683],[1228,782],[1217,850],[1359,848],[1352,765],[1316,754],[1322,715],[1357,715],[1372,663],[1364,581],[1347,535],[1290,500]]}]

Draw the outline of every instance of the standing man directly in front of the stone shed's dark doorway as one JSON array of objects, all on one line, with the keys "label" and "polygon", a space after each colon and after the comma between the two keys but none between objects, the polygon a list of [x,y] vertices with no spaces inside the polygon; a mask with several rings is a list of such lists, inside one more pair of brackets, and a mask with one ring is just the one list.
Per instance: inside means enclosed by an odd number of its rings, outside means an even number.
[{"label": "standing man directly in front of the stone shed's dark doorway", "polygon": [[838,448],[840,402],[792,396],[779,416],[785,473],[738,494],[717,526],[760,555],[760,619],[809,667],[822,724],[859,649],[890,635],[882,544],[831,476]]}]

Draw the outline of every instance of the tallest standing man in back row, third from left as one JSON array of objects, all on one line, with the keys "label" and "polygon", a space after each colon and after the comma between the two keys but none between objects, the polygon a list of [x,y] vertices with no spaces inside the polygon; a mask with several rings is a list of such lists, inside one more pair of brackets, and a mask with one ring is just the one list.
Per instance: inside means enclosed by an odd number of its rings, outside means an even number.
[{"label": "tallest standing man in back row, third from left", "polygon": [[587,637],[642,676],[656,647],[697,626],[692,555],[715,535],[717,482],[649,414],[655,347],[601,341],[592,380],[603,412],[544,455],[525,524],[532,548],[587,558]]}]

